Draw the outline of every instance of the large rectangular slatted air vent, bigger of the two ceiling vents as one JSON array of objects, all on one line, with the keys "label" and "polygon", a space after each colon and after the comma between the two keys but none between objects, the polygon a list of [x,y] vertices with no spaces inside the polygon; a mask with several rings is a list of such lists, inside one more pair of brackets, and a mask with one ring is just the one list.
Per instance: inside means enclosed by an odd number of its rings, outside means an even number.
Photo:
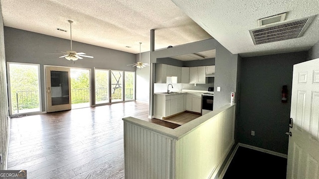
[{"label": "large rectangular slatted air vent, bigger of the two ceiling vents", "polygon": [[249,30],[255,45],[301,37],[314,16]]}]

